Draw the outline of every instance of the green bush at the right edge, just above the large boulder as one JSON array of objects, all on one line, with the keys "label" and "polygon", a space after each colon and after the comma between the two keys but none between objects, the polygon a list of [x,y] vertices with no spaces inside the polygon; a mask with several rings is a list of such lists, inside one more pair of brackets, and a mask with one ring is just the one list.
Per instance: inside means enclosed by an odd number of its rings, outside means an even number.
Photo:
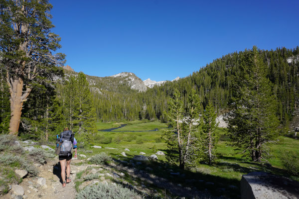
[{"label": "green bush at the right edge, just above the large boulder", "polygon": [[292,174],[299,175],[299,157],[294,151],[286,151],[280,157],[284,167]]}]

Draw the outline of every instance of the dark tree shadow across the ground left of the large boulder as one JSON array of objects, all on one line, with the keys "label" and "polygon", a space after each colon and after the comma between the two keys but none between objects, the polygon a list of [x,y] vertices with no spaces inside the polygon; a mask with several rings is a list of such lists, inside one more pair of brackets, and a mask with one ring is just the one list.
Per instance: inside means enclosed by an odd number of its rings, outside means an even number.
[{"label": "dark tree shadow across the ground left of the large boulder", "polygon": [[144,184],[165,193],[168,190],[174,197],[209,197],[209,194],[212,194],[215,197],[240,198],[240,181],[236,179],[204,172],[182,171],[176,165],[154,159],[137,164],[137,161],[133,160],[133,155],[119,156],[119,159],[115,160],[119,163],[115,166],[116,170],[126,172],[128,178],[140,185]]}]

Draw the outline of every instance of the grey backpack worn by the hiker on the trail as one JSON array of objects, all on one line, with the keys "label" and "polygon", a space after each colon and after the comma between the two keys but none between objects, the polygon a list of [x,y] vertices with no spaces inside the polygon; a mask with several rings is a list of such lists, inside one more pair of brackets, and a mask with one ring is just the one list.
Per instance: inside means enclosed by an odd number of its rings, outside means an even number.
[{"label": "grey backpack worn by the hiker on the trail", "polygon": [[74,143],[74,133],[71,130],[63,131],[60,133],[60,156],[69,156],[72,154],[72,148]]}]

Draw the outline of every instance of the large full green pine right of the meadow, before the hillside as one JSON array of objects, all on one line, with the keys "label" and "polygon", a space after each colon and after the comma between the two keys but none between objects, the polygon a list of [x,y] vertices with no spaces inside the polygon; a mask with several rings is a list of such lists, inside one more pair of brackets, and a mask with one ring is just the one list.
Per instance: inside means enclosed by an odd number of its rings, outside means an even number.
[{"label": "large full green pine right of the meadow, before the hillside", "polygon": [[277,101],[256,46],[244,52],[240,67],[234,84],[234,110],[228,116],[228,135],[256,162],[264,158],[265,144],[278,136]]}]

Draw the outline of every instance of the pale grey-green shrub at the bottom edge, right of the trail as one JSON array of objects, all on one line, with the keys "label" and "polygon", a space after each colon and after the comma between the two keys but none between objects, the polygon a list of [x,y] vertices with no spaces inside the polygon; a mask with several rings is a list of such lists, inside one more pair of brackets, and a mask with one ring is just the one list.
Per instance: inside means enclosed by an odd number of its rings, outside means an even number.
[{"label": "pale grey-green shrub at the bottom edge, right of the trail", "polygon": [[143,197],[120,185],[99,184],[86,187],[77,194],[76,199],[143,199]]}]

